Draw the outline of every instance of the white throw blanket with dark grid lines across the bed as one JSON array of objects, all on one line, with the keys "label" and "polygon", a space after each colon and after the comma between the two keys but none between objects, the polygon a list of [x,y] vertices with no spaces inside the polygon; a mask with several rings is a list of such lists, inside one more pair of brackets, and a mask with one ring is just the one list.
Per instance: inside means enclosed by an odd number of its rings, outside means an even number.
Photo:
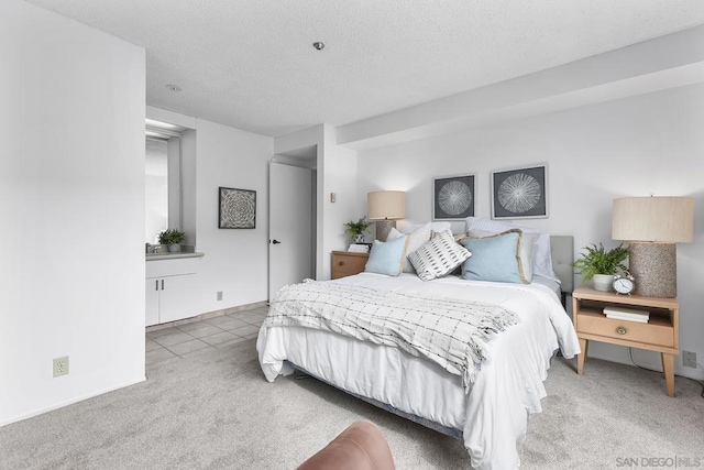
[{"label": "white throw blanket with dark grid lines across the bed", "polygon": [[393,346],[460,375],[465,391],[487,359],[486,341],[518,323],[492,304],[307,281],[282,288],[265,327],[294,326],[333,331]]}]

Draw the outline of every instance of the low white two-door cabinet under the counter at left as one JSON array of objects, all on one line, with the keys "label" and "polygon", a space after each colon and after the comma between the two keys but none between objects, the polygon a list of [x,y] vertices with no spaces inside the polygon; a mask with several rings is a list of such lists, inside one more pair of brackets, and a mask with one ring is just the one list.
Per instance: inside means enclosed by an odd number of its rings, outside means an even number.
[{"label": "low white two-door cabinet under the counter at left", "polygon": [[146,326],[200,314],[198,259],[146,263]]}]

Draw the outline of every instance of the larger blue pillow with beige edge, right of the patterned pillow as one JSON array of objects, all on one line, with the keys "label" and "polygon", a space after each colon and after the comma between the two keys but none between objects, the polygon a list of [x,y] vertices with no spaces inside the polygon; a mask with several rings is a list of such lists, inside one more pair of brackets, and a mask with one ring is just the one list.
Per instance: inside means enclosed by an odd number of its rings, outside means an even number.
[{"label": "larger blue pillow with beige edge, right of the patterned pillow", "polygon": [[460,243],[472,252],[462,264],[462,277],[470,281],[522,283],[519,271],[520,233],[487,238],[463,238]]}]

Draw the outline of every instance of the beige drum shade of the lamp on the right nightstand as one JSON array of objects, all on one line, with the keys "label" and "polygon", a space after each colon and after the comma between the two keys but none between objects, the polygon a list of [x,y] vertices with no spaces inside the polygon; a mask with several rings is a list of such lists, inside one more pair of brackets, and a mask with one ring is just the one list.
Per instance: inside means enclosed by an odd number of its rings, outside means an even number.
[{"label": "beige drum shade of the lamp on the right nightstand", "polygon": [[691,197],[614,199],[612,238],[624,241],[690,243],[694,239]]}]

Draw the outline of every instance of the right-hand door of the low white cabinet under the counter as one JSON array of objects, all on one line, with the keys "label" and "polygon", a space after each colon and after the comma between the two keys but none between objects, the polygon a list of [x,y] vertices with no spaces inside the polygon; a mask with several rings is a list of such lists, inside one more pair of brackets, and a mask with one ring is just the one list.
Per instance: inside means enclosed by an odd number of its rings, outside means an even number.
[{"label": "right-hand door of the low white cabinet under the counter", "polygon": [[180,320],[199,314],[200,293],[196,274],[168,276],[162,280],[164,288],[160,291],[158,323]]}]

